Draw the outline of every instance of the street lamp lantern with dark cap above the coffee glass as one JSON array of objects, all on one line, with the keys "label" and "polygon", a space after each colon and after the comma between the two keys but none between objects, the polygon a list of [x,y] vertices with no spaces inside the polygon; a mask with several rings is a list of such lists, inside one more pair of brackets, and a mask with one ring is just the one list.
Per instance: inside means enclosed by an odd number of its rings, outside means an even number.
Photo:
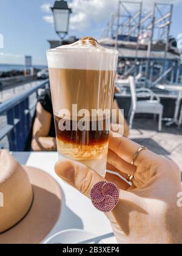
[{"label": "street lamp lantern with dark cap above the coffee glass", "polygon": [[69,30],[69,19],[72,9],[69,8],[67,1],[55,1],[54,6],[51,8],[55,23],[56,33],[61,39],[66,37]]}]

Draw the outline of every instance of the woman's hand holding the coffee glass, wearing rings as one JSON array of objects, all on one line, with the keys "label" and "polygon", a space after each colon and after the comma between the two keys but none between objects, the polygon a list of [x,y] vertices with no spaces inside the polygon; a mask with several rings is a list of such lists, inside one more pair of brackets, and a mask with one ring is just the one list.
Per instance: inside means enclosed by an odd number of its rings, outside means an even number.
[{"label": "woman's hand holding the coffee glass, wearing rings", "polygon": [[[110,134],[107,169],[121,176],[133,175],[130,187],[120,177],[107,174],[106,180],[120,189],[120,201],[106,213],[118,243],[182,243],[182,208],[177,206],[181,190],[180,170],[174,162],[148,150],[141,151],[132,166],[139,144]],[[55,171],[61,179],[85,196],[103,178],[77,162],[58,162]]]}]

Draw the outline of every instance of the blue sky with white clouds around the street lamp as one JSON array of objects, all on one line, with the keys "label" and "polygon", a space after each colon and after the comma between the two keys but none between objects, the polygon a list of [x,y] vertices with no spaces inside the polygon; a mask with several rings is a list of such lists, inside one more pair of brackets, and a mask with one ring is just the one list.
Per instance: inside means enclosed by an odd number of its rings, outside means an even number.
[{"label": "blue sky with white clouds around the street lamp", "polygon": [[[152,0],[144,0],[146,8]],[[52,24],[49,6],[53,0],[1,0],[0,34],[4,49],[0,49],[0,63],[24,63],[24,55],[32,55],[34,65],[46,64],[45,51],[49,39],[58,39]],[[73,9],[69,35],[90,35],[99,38],[105,29],[117,0],[70,0]],[[171,2],[171,1],[160,1]],[[171,33],[182,33],[182,0],[173,1],[174,16]]]}]

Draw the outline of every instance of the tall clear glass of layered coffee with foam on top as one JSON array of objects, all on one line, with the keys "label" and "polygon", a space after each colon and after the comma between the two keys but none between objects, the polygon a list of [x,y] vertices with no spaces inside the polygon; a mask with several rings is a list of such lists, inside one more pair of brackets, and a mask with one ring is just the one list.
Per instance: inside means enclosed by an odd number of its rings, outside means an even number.
[{"label": "tall clear glass of layered coffee with foam on top", "polygon": [[58,154],[104,177],[118,52],[86,37],[47,60]]}]

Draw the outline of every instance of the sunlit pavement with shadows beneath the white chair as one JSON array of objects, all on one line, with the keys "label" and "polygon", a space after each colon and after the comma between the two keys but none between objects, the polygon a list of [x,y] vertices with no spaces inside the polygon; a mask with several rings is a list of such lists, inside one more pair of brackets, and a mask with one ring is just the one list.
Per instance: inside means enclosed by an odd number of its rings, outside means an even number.
[{"label": "sunlit pavement with shadows beneath the white chair", "polygon": [[182,126],[166,127],[158,132],[158,123],[152,119],[135,119],[130,138],[151,151],[174,160],[182,171]]}]

